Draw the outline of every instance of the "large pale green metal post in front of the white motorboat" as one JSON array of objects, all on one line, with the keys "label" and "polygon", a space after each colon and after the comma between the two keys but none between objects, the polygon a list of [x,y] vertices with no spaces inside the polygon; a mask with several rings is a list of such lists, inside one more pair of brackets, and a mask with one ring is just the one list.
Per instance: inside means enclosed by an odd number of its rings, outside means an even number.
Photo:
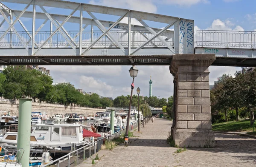
[{"label": "large pale green metal post in front of the white motorboat", "polygon": [[[24,149],[24,154],[22,159],[18,159],[17,161],[22,164],[22,167],[29,167],[31,110],[32,99],[19,99],[17,150],[21,148]],[[23,151],[21,150],[20,154],[22,155],[22,153]],[[17,157],[19,157],[19,155]]]}]

